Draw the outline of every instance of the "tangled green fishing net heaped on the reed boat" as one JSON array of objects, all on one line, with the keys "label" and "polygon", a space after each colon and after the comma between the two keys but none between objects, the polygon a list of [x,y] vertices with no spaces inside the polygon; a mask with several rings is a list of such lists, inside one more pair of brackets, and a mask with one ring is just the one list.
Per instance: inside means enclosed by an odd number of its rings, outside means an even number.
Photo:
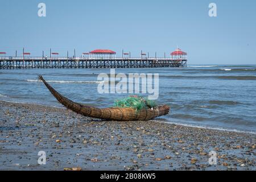
[{"label": "tangled green fishing net heaped on the reed boat", "polygon": [[152,100],[140,96],[129,96],[123,98],[122,100],[117,100],[114,102],[115,107],[132,107],[133,109],[139,111],[141,109],[148,109],[156,107],[156,103]]}]

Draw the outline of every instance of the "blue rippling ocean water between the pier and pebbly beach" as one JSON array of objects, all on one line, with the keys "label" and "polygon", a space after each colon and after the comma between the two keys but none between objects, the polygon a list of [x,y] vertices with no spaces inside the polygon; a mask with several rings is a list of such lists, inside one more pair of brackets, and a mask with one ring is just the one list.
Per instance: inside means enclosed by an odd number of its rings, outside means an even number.
[{"label": "blue rippling ocean water between the pier and pebbly beach", "polygon": [[[109,74],[110,69],[0,70],[0,100],[62,107],[38,82],[38,74],[65,97],[84,104],[108,107],[130,95],[99,94],[100,73]],[[115,69],[115,73],[159,73],[157,102],[170,105],[171,112],[157,122],[256,133],[256,65]]]}]

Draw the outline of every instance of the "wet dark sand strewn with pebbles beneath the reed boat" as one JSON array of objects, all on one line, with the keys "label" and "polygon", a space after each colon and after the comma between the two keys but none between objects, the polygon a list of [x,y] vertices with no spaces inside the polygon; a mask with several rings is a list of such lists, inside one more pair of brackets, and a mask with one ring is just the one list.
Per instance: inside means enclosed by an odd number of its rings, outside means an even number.
[{"label": "wet dark sand strewn with pebbles beneath the reed boat", "polygon": [[[0,170],[255,170],[255,134],[0,101]],[[38,164],[45,151],[46,165]],[[210,165],[209,152],[217,152]]]}]

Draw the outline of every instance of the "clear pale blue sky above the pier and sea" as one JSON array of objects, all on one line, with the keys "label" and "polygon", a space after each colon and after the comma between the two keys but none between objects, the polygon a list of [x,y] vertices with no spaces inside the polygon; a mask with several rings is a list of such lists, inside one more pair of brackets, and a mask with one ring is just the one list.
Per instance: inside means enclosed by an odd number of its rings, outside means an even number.
[{"label": "clear pale blue sky above the pier and sea", "polygon": [[[38,4],[46,4],[46,17]],[[217,17],[208,14],[216,3]],[[112,49],[163,57],[176,47],[188,64],[256,64],[256,1],[0,0],[0,52],[60,56]]]}]

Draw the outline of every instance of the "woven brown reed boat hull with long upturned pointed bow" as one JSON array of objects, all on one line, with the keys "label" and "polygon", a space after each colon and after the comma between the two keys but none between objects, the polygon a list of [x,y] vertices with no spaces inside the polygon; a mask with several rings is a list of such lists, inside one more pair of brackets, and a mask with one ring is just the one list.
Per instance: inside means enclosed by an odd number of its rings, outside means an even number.
[{"label": "woven brown reed boat hull with long upturned pointed bow", "polygon": [[97,107],[92,107],[88,105],[82,105],[69,100],[68,98],[62,96],[59,92],[52,88],[43,76],[38,76],[39,80],[43,81],[44,85],[52,93],[52,95],[59,101],[62,105],[68,109],[82,114],[86,117],[100,118],[111,121],[147,121],[159,117],[161,115],[166,115],[169,113],[170,107],[167,105],[158,106],[156,109],[142,109],[140,111],[135,111],[135,109],[119,108],[119,107],[108,107],[105,109],[99,109]]}]

